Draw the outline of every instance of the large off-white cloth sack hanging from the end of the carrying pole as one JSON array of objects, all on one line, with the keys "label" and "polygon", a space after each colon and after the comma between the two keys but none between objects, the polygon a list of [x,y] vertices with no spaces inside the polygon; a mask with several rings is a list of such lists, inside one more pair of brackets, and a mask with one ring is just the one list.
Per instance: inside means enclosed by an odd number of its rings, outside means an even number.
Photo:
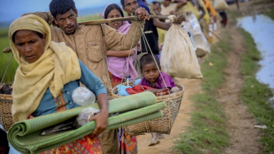
[{"label": "large off-white cloth sack hanging from the end of the carrying pole", "polygon": [[165,35],[160,65],[172,77],[203,78],[189,36],[178,24],[172,24]]}]

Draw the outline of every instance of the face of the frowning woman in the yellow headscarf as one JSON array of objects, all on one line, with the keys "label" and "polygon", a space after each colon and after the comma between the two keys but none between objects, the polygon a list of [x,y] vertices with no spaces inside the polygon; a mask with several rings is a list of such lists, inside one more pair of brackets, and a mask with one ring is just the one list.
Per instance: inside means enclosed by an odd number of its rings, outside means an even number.
[{"label": "face of the frowning woman in the yellow headscarf", "polygon": [[16,32],[15,46],[19,54],[28,63],[37,61],[44,53],[44,46],[46,45],[46,35],[40,38],[39,35],[31,30],[19,30]]}]

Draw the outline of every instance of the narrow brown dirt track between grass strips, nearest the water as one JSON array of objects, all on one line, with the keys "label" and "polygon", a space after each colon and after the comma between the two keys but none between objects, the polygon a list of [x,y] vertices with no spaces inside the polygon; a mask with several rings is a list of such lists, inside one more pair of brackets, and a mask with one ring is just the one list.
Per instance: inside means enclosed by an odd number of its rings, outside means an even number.
[{"label": "narrow brown dirt track between grass strips, nearest the water", "polygon": [[233,50],[228,54],[228,65],[225,70],[226,83],[219,89],[218,102],[222,103],[228,117],[230,147],[227,154],[259,154],[259,133],[253,128],[256,121],[241,102],[239,92],[243,85],[240,72],[241,55],[245,52],[243,36],[235,25],[228,27],[233,36]]}]

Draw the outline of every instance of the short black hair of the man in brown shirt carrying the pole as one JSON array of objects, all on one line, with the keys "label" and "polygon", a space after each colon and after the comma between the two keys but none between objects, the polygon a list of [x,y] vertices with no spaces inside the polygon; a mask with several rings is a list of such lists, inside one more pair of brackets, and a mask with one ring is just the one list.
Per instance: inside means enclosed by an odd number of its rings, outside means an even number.
[{"label": "short black hair of the man in brown shirt carrying the pole", "polygon": [[72,9],[76,11],[75,3],[73,0],[51,0],[49,4],[49,11],[51,15],[56,18],[59,14],[64,14]]}]

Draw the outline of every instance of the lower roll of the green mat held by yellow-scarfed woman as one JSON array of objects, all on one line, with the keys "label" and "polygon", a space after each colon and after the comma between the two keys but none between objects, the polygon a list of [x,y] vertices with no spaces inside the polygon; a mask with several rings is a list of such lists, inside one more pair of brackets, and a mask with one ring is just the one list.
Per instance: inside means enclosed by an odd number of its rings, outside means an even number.
[{"label": "lower roll of the green mat held by yellow-scarfed woman", "polygon": [[[164,102],[161,102],[161,103],[157,103],[144,108],[128,111],[113,117],[109,117],[108,127],[116,124],[120,124],[123,122],[127,122],[129,120],[133,120],[138,117],[146,116],[153,112],[159,111],[165,107],[166,107],[166,104]],[[24,136],[17,136],[16,140],[14,141],[16,141],[17,146],[23,146],[24,148],[28,145],[31,145],[29,146],[31,151],[35,151],[37,149],[41,149],[43,147],[48,147],[51,145],[53,147],[56,147],[56,145],[63,145],[90,134],[95,129],[95,125],[96,125],[95,121],[91,121],[90,123],[76,130],[48,135],[48,136],[41,136],[40,135],[41,131],[37,131]]]}]

